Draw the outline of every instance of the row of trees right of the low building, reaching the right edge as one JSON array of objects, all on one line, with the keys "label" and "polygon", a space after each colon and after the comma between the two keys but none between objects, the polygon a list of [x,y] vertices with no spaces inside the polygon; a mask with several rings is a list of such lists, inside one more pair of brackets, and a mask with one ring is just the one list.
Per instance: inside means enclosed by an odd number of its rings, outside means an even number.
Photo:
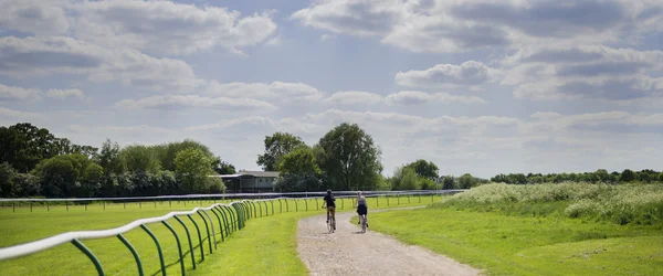
[{"label": "row of trees right of the low building, reaching the right edge", "polygon": [[370,135],[356,124],[340,124],[313,146],[288,132],[275,132],[264,139],[265,151],[256,163],[264,170],[280,171],[276,191],[333,190],[433,190],[470,189],[488,182],[535,184],[572,182],[663,182],[655,170],[608,172],[599,169],[580,173],[509,173],[481,179],[470,173],[441,174],[432,161],[418,159],[396,168],[392,177],[381,174],[381,150]]}]

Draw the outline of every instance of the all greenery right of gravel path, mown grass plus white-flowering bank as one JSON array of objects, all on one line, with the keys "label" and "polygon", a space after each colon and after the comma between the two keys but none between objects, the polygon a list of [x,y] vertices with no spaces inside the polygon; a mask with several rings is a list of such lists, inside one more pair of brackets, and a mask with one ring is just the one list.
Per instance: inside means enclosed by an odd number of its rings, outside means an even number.
[{"label": "all greenery right of gravel path, mown grass plus white-flowering bank", "polygon": [[[490,275],[661,275],[661,191],[492,184],[423,210],[375,213],[370,227]],[[573,211],[579,204],[585,211]]]}]

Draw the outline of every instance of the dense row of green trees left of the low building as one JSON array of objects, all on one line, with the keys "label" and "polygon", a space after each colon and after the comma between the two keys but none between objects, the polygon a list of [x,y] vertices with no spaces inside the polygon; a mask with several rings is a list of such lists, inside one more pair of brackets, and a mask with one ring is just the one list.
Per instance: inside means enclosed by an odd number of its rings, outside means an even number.
[{"label": "dense row of green trees left of the low building", "polygon": [[28,123],[0,127],[0,197],[139,197],[219,193],[208,176],[234,173],[209,147],[183,140],[99,148],[72,144]]}]

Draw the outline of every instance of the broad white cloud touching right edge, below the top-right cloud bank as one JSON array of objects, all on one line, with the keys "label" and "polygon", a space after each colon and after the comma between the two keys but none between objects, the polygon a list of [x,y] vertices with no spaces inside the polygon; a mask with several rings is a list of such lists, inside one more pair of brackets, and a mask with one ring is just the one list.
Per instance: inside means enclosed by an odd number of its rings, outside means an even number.
[{"label": "broad white cloud touching right edge, below the top-right cloud bank", "polygon": [[[502,64],[514,96],[537,100],[599,99],[644,104],[663,96],[662,51],[607,46],[528,47]],[[657,73],[656,73],[657,72]]]}]

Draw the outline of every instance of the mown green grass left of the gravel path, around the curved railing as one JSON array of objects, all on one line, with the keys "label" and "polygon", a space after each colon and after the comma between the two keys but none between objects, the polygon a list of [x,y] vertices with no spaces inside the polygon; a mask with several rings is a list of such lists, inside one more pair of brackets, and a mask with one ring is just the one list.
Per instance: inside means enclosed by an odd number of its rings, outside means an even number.
[{"label": "mown green grass left of the gravel path, around the curved railing", "polygon": [[[390,198],[387,202],[386,198],[369,199],[371,209],[382,209],[389,206],[407,206],[421,205],[434,201],[440,201],[440,197],[411,197],[411,198]],[[56,205],[50,206],[33,206],[30,211],[29,205],[23,205],[14,210],[11,206],[0,209],[0,247],[17,245],[25,242],[44,238],[51,235],[81,230],[103,230],[124,225],[137,219],[159,216],[170,211],[188,211],[194,206],[208,206],[214,202],[172,202],[170,205],[165,203],[130,203],[125,205],[110,204],[104,206],[101,204],[88,205],[87,209],[82,205],[66,206]],[[352,209],[352,200],[337,200],[339,211],[349,211]],[[322,200],[288,200],[287,205],[282,201],[280,205],[274,203],[274,216],[265,216],[252,219],[246,227],[230,236],[225,242],[221,242],[221,236],[218,234],[218,248],[212,246],[213,254],[209,254],[209,244],[203,241],[203,250],[206,252],[206,261],[200,262],[200,247],[197,238],[193,238],[194,256],[198,267],[192,269],[191,258],[189,254],[189,244],[186,238],[183,227],[175,220],[169,220],[168,223],[177,231],[180,236],[180,242],[185,253],[186,269],[199,275],[206,274],[241,274],[242,272],[252,270],[256,274],[262,272],[274,273],[271,266],[260,265],[261,263],[281,265],[281,272],[299,274],[302,273],[302,264],[296,254],[283,254],[292,252],[296,248],[294,242],[296,222],[298,217],[306,215],[315,215],[323,213],[319,210]],[[265,210],[266,209],[266,210]],[[272,205],[262,205],[262,214],[272,213]],[[308,210],[308,211],[307,211]],[[280,214],[283,212],[284,214]],[[257,213],[260,216],[260,213]],[[212,214],[210,214],[212,215]],[[200,216],[193,216],[201,227],[201,232],[206,233],[203,221]],[[212,217],[214,217],[212,215]],[[190,231],[193,230],[193,224],[185,220]],[[218,226],[218,223],[214,222]],[[155,235],[159,238],[167,264],[168,274],[179,275],[179,255],[175,237],[161,224],[148,225]],[[146,275],[156,275],[160,272],[158,254],[152,240],[143,230],[133,230],[125,234],[126,238],[136,247],[141,257]],[[117,238],[102,238],[84,241],[99,258],[107,275],[135,275],[137,268],[135,261],[129,251]],[[236,250],[236,251],[235,251]],[[273,252],[274,254],[264,254],[264,252]],[[252,268],[248,268],[251,265]],[[17,259],[0,262],[0,272],[2,275],[66,275],[78,274],[88,275],[95,274],[92,263],[73,245],[65,244],[54,248],[25,256]],[[208,273],[206,273],[208,272]],[[305,272],[304,272],[305,274]]]}]

